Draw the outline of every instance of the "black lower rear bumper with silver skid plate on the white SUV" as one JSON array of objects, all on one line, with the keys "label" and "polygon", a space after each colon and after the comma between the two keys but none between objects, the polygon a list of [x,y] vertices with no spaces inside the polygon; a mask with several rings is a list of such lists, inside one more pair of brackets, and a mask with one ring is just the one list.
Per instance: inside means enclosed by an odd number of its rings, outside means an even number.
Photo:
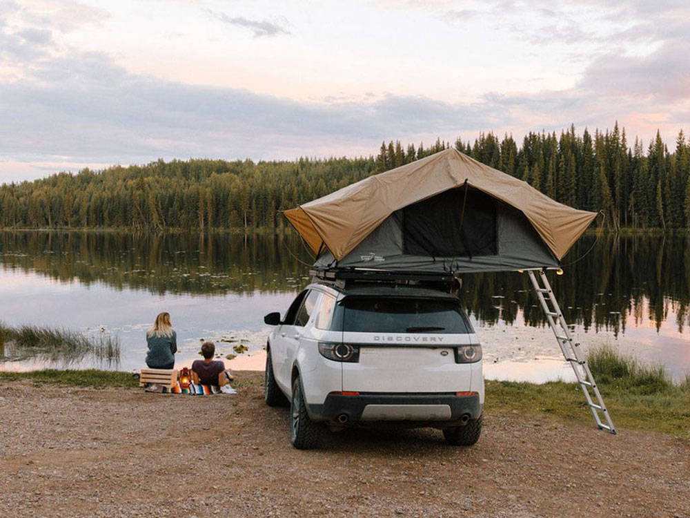
[{"label": "black lower rear bumper with silver skid plate on the white SUV", "polygon": [[448,426],[482,415],[479,394],[360,392],[357,396],[328,394],[322,405],[307,405],[314,421],[351,424],[360,421],[397,421]]}]

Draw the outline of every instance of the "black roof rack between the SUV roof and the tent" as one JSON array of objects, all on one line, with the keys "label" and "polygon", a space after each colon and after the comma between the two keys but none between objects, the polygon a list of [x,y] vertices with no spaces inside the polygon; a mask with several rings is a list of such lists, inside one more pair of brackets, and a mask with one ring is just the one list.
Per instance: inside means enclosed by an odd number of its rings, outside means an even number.
[{"label": "black roof rack between the SUV roof and the tent", "polygon": [[328,268],[309,271],[313,280],[326,282],[344,288],[355,283],[393,283],[398,285],[420,285],[442,288],[457,287],[460,279],[453,274],[428,271],[391,271],[364,268]]}]

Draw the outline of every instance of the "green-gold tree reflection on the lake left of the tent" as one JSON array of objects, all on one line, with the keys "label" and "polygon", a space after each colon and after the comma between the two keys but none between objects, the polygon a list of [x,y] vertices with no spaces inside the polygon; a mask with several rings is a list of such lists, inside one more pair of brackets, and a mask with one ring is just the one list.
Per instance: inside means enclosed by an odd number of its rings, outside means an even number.
[{"label": "green-gold tree reflection on the lake left of the tent", "polygon": [[161,295],[295,291],[308,282],[309,259],[292,235],[0,233],[5,267]]}]

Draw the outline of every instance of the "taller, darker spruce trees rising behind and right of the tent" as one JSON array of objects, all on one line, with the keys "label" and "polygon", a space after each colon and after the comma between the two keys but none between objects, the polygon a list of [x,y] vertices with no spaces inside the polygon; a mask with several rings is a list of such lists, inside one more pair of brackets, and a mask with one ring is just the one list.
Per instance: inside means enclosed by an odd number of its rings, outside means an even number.
[{"label": "taller, darker spruce trees rising behind and right of the tent", "polygon": [[[624,129],[575,127],[553,133],[529,133],[522,146],[510,135],[501,140],[480,134],[473,144],[458,139],[458,151],[500,169],[539,189],[554,200],[588,211],[603,211],[604,225],[613,229],[690,227],[690,140],[678,133],[676,148],[668,147],[657,132],[645,153],[638,138],[629,147]],[[434,149],[451,146],[436,142]],[[435,152],[435,151],[434,151]],[[428,154],[422,148],[422,155]],[[384,143],[376,171],[386,171],[417,160],[420,150],[400,142]]]}]

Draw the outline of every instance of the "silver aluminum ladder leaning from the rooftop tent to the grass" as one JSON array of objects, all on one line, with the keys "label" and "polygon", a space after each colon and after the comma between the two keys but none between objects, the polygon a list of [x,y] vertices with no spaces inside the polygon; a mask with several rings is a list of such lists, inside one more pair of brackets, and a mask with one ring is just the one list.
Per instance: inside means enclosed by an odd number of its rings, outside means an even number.
[{"label": "silver aluminum ladder leaning from the rooftop tent to the grass", "polygon": [[[607,411],[606,405],[604,405],[604,400],[589,370],[584,354],[580,352],[580,344],[573,341],[568,324],[565,318],[563,318],[563,313],[558,305],[558,300],[556,300],[553,294],[549,279],[546,278],[546,272],[543,269],[527,270],[527,274],[529,274],[534,291],[539,298],[542,309],[544,309],[551,331],[553,331],[558,341],[558,347],[560,347],[566,361],[573,367],[575,378],[578,378],[578,384],[582,389],[584,398],[587,400],[587,405],[589,405],[589,410],[592,412],[595,423],[597,423],[600,430],[607,430],[607,432],[615,434],[615,427],[613,426],[613,421],[611,421],[611,416]],[[548,297],[548,301],[546,297]],[[594,397],[590,391],[594,394]],[[594,402],[595,400],[597,401],[596,403]]]}]

